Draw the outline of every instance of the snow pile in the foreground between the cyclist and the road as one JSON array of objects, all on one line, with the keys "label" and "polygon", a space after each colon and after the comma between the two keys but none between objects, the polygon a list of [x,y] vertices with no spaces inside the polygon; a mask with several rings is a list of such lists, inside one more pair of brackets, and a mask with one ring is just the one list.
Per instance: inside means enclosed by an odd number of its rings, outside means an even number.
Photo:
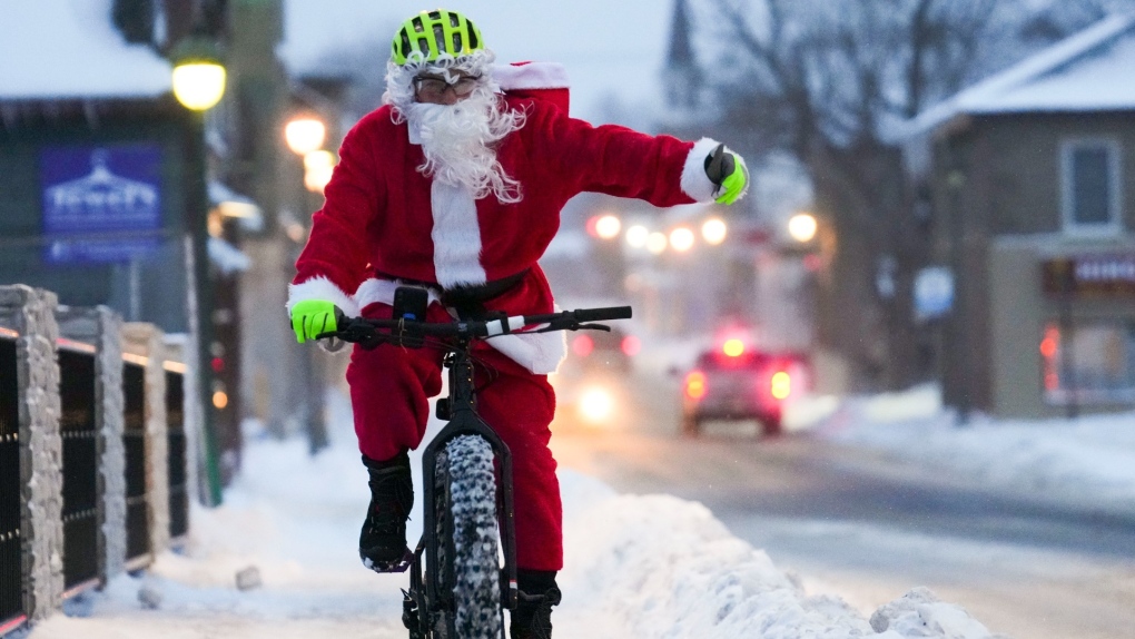
[{"label": "snow pile in the foreground between the cyclist and the road", "polygon": [[[868,621],[842,599],[807,596],[794,575],[733,537],[700,504],[615,495],[572,474],[561,471],[566,567],[557,633],[566,624],[568,637],[588,639],[994,637],[926,589],[880,607]],[[586,631],[570,621],[595,614],[604,623]]]}]

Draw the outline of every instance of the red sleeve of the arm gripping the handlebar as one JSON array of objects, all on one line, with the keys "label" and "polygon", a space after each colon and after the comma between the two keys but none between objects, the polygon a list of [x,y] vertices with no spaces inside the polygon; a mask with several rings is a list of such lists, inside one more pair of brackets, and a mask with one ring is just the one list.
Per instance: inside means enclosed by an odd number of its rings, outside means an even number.
[{"label": "red sleeve of the arm gripping the handlebar", "polygon": [[375,160],[377,116],[363,118],[343,141],[338,165],[323,190],[323,208],[312,216],[311,235],[296,260],[289,304],[328,299],[335,291],[325,284],[351,296],[369,276],[367,228],[385,201]]}]

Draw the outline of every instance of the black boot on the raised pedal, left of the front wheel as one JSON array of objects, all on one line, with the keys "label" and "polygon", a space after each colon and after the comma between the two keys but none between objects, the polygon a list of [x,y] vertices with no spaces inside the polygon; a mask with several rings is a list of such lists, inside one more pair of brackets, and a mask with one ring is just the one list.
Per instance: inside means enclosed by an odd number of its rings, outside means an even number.
[{"label": "black boot on the raised pedal, left of the front wheel", "polygon": [[411,555],[406,547],[406,520],[414,506],[410,456],[403,452],[379,462],[363,455],[370,473],[370,507],[359,535],[359,556],[375,572],[403,570]]}]

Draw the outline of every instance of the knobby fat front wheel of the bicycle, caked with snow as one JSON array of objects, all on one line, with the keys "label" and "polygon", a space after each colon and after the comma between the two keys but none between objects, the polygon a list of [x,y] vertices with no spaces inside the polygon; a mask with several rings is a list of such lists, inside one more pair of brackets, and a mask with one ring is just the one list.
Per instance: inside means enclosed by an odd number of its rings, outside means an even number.
[{"label": "knobby fat front wheel of the bicycle, caked with snow", "polygon": [[[453,587],[447,637],[501,637],[501,562],[497,547],[496,472],[484,437],[453,438],[434,473],[437,499],[438,572]],[[452,624],[451,624],[452,622]],[[448,631],[452,629],[453,633]],[[440,630],[440,629],[439,629]]]}]

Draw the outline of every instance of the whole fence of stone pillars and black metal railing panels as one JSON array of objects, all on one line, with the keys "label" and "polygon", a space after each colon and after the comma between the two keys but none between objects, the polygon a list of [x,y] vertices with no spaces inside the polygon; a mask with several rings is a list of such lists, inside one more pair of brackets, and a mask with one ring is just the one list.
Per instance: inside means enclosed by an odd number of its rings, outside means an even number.
[{"label": "whole fence of stone pillars and black metal railing panels", "polygon": [[0,636],[186,536],[185,367],[161,340],[0,286]]}]

